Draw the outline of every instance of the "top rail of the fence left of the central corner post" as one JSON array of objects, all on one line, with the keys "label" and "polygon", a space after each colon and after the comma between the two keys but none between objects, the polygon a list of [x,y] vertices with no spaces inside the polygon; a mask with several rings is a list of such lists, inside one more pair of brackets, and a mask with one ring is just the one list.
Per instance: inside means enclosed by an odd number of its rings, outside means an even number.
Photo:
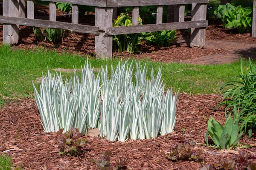
[{"label": "top rail of the fence left of the central corner post", "polygon": [[43,0],[49,2],[71,3],[76,5],[87,5],[97,7],[107,7],[107,0]]}]

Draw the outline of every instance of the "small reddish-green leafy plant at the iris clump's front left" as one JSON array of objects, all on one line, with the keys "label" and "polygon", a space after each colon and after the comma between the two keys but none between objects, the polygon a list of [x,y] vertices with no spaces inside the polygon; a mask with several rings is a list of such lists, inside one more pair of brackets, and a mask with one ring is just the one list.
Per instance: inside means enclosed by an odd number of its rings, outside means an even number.
[{"label": "small reddish-green leafy plant at the iris clump's front left", "polygon": [[58,142],[61,144],[60,155],[79,156],[83,154],[87,139],[81,139],[82,134],[75,127],[62,134],[64,129],[58,131]]}]

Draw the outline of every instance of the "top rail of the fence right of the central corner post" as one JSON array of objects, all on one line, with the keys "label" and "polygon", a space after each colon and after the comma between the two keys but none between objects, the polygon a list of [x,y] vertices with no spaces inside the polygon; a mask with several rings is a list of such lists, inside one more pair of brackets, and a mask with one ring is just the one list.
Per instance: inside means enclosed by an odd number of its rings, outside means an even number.
[{"label": "top rail of the fence right of the central corner post", "polygon": [[209,0],[107,0],[108,7],[121,6],[163,6],[189,3],[208,3]]}]

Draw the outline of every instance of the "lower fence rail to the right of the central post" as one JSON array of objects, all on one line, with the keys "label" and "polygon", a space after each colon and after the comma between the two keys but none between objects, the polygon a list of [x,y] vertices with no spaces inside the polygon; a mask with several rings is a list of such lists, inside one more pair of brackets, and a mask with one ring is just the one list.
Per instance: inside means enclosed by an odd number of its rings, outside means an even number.
[{"label": "lower fence rail to the right of the central post", "polygon": [[163,24],[148,24],[142,26],[122,26],[122,27],[113,27],[105,28],[105,34],[110,35],[119,35],[119,34],[133,34],[140,32],[151,32],[151,31],[164,31],[164,30],[173,30],[173,29],[188,29],[188,28],[200,28],[207,27],[208,20],[202,21],[188,21],[182,23],[163,23]]}]

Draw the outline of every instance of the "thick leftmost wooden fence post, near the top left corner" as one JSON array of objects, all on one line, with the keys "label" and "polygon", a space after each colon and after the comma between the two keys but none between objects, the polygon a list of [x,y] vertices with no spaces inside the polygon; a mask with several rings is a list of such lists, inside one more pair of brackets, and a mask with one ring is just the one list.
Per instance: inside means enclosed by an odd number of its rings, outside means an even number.
[{"label": "thick leftmost wooden fence post, near the top left corner", "polygon": [[[3,16],[19,17],[19,0],[3,0]],[[17,44],[19,40],[19,25],[3,24],[3,42]]]}]

